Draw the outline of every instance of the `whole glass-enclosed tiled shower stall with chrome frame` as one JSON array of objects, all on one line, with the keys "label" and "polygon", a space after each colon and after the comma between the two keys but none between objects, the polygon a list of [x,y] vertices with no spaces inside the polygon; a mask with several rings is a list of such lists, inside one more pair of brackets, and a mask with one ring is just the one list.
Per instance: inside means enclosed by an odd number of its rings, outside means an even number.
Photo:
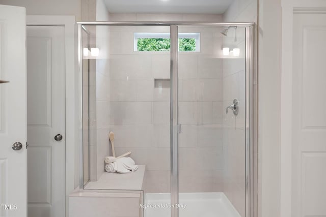
[{"label": "whole glass-enclosed tiled shower stall with chrome frame", "polygon": [[[253,216],[254,25],[78,22],[80,189],[145,217]],[[104,158],[131,151],[130,173]]]}]

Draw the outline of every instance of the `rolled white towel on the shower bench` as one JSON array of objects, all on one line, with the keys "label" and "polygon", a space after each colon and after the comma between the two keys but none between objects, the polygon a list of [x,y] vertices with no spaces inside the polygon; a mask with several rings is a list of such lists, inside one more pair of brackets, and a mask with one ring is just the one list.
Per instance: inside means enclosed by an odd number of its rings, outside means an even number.
[{"label": "rolled white towel on the shower bench", "polygon": [[120,158],[110,164],[105,164],[106,172],[129,173],[138,170],[138,166],[130,158]]}]

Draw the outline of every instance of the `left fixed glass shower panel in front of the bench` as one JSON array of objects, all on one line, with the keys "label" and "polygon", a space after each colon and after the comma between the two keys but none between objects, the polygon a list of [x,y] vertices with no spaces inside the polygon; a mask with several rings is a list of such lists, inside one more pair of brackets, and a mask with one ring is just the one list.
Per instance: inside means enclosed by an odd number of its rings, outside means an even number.
[{"label": "left fixed glass shower panel in front of the bench", "polygon": [[[170,27],[83,27],[89,33],[89,46],[82,49],[89,61],[89,180],[84,189],[144,191],[144,204],[170,204]],[[106,172],[104,159],[113,156],[112,144],[117,157],[131,151],[136,171]],[[155,216],[158,210],[144,214]],[[170,209],[160,211],[170,216]]]}]

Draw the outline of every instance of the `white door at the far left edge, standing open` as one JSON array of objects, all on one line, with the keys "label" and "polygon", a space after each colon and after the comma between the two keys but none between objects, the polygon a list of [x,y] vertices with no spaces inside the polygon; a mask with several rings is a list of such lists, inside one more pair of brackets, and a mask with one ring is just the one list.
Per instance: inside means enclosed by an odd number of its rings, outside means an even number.
[{"label": "white door at the far left edge, standing open", "polygon": [[25,8],[0,5],[0,80],[9,81],[0,83],[0,216],[26,216],[25,19]]}]

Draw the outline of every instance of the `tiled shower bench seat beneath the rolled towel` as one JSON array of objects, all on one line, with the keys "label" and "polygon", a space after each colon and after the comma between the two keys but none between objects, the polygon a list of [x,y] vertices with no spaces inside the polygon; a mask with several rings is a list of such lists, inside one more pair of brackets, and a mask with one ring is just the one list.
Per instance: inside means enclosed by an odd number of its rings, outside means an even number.
[{"label": "tiled shower bench seat beneath the rolled towel", "polygon": [[145,165],[131,173],[104,172],[69,195],[69,217],[142,217]]}]

